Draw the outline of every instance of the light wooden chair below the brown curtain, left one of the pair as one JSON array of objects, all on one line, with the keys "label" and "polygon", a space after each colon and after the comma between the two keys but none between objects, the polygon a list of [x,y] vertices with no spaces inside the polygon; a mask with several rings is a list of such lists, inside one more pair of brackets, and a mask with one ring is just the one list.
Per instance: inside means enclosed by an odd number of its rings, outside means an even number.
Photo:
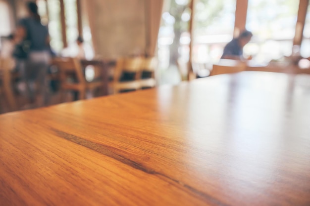
[{"label": "light wooden chair below the brown curtain, left one of the pair", "polygon": [[143,58],[119,58],[114,68],[113,82],[110,84],[113,93],[140,89],[141,67]]}]

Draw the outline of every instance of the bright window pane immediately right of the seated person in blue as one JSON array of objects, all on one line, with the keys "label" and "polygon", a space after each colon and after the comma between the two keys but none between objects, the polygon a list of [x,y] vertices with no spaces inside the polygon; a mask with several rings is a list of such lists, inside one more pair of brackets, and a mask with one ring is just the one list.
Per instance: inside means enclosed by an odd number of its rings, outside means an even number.
[{"label": "bright window pane immediately right of the seated person in blue", "polygon": [[298,5],[297,0],[249,0],[246,28],[254,37],[244,53],[258,62],[291,55]]}]

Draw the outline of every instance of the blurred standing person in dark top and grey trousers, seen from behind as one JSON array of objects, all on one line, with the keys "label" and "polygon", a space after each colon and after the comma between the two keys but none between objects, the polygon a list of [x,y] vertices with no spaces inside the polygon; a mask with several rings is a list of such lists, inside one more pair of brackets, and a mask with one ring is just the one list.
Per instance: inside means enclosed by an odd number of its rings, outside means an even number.
[{"label": "blurred standing person in dark top and grey trousers, seen from behind", "polygon": [[[46,76],[50,63],[48,28],[41,24],[38,6],[35,2],[26,3],[29,16],[21,19],[17,34],[28,47],[26,67],[23,71],[30,102],[36,100],[35,89],[39,92],[38,106],[47,103]],[[36,87],[36,88],[35,88]]]}]

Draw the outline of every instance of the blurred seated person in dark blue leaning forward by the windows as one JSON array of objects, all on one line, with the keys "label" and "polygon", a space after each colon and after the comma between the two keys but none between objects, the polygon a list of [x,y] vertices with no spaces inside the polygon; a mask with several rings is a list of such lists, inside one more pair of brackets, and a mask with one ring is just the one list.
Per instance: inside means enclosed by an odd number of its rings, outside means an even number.
[{"label": "blurred seated person in dark blue leaning forward by the windows", "polygon": [[251,41],[252,36],[252,32],[243,31],[238,38],[226,44],[221,59],[245,60],[243,57],[243,47]]}]

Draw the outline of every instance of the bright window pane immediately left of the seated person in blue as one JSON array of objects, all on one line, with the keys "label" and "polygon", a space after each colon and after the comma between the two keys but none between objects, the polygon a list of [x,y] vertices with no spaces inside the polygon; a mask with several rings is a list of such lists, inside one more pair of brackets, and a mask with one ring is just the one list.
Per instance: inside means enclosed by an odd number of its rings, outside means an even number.
[{"label": "bright window pane immediately left of the seated person in blue", "polygon": [[197,0],[193,62],[217,62],[233,38],[236,0]]}]

